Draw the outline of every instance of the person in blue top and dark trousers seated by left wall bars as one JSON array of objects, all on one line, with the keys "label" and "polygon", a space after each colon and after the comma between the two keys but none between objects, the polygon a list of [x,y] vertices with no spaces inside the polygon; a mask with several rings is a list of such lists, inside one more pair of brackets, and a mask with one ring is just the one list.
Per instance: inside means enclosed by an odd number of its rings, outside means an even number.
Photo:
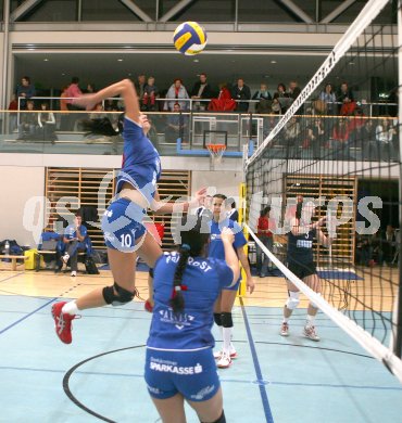
[{"label": "person in blue top and dark trousers seated by left wall bars", "polygon": [[[81,225],[83,218],[77,213],[74,223],[68,225],[64,231],[63,242],[65,244],[65,254],[62,260],[65,265],[70,261],[72,277],[77,275],[78,269],[78,253],[87,249],[85,240],[87,238],[87,228]],[[63,264],[61,264],[63,266]]]}]

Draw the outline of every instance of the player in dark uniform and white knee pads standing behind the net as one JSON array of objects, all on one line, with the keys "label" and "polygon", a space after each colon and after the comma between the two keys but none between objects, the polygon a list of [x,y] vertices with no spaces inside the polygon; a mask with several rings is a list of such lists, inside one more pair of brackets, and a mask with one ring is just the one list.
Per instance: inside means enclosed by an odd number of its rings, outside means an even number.
[{"label": "player in dark uniform and white knee pads standing behind the net", "polygon": [[[317,240],[322,245],[329,247],[334,241],[332,238],[326,236],[319,227],[325,218],[312,223],[311,219],[314,214],[314,203],[298,202],[296,216],[291,218],[291,231],[288,234],[288,269],[301,279],[307,286],[316,293],[321,293],[321,281],[313,257],[313,242]],[[287,280],[289,297],[284,307],[284,321],[280,329],[281,336],[289,335],[289,318],[300,303],[300,291],[290,281]],[[307,308],[307,319],[303,329],[303,335],[312,341],[319,341],[314,326],[314,319],[318,311],[317,306],[310,302]]]}]

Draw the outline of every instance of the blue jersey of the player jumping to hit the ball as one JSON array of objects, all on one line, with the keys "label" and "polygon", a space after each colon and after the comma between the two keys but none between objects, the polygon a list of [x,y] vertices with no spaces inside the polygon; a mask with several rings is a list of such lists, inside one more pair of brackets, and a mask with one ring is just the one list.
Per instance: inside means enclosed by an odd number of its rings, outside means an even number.
[{"label": "blue jersey of the player jumping to hit the ball", "polygon": [[117,177],[117,193],[124,182],[139,190],[151,203],[161,177],[161,159],[142,127],[128,117],[124,118],[124,150],[122,170]]}]

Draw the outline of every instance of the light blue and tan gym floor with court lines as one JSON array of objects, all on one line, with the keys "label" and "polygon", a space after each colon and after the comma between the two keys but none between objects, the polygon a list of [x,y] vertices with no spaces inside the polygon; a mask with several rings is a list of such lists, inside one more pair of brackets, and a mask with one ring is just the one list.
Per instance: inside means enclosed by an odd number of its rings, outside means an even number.
[{"label": "light blue and tan gym floor with court lines", "polygon": [[[146,297],[147,273],[137,274]],[[151,318],[142,302],[86,310],[73,322],[72,345],[54,334],[55,300],[111,280],[109,270],[77,278],[0,272],[0,422],[160,421],[142,377]],[[322,312],[316,321],[322,341],[302,337],[305,302],[290,320],[290,336],[282,338],[285,281],[255,281],[255,293],[234,310],[238,358],[219,370],[228,422],[401,421],[402,385],[381,363]],[[198,422],[192,410],[187,415]]]}]

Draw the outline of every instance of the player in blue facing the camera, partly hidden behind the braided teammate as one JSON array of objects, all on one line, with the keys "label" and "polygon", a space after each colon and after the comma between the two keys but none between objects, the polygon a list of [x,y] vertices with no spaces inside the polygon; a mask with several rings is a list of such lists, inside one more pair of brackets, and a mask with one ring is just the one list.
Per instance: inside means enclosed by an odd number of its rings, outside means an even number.
[{"label": "player in blue facing the camera, partly hidden behind the braided teammate", "polygon": [[[243,251],[243,246],[247,244],[247,240],[241,231],[240,226],[228,219],[226,215],[226,195],[215,194],[212,201],[213,219],[211,221],[211,242],[209,246],[209,257],[224,259],[224,246],[221,239],[221,232],[223,228],[230,228],[235,233],[235,240],[233,248],[236,252],[238,259],[241,262],[246,271],[247,287],[250,294],[254,291],[254,281],[251,277],[249,260]],[[234,322],[231,317],[231,309],[235,304],[236,294],[240,284],[240,278],[237,283],[229,287],[224,289],[215,304],[214,320],[218,325],[222,338],[223,347],[221,351],[215,354],[217,359],[217,367],[226,369],[231,364],[231,359],[237,356],[236,349],[231,343]]]}]

